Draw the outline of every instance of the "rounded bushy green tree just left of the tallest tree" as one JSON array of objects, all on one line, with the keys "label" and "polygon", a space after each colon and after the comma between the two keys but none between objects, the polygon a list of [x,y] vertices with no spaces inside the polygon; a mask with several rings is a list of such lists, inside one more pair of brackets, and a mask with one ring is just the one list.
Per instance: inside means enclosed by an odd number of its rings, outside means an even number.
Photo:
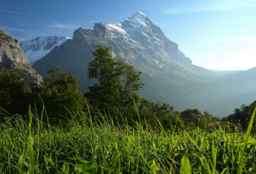
[{"label": "rounded bushy green tree just left of the tallest tree", "polygon": [[[51,123],[69,119],[72,114],[81,113],[83,109],[83,95],[77,86],[79,79],[61,70],[62,68],[58,67],[50,69],[42,88],[31,87],[31,102],[40,108],[41,99],[43,100]],[[42,107],[37,110],[42,110]]]}]

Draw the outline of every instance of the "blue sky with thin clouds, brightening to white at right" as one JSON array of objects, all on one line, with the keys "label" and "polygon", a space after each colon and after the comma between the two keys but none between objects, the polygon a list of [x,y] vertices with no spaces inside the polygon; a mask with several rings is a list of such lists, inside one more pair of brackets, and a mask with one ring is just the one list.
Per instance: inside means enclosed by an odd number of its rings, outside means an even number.
[{"label": "blue sky with thin clouds, brightening to white at right", "polygon": [[256,1],[0,0],[0,29],[13,38],[56,35],[95,23],[118,23],[142,12],[194,65],[209,69],[256,67]]}]

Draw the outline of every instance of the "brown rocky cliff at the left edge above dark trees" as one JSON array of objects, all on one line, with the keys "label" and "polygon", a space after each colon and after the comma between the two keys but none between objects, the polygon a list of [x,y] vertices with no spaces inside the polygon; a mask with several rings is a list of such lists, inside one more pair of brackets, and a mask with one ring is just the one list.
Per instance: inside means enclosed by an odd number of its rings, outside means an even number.
[{"label": "brown rocky cliff at the left edge above dark trees", "polygon": [[42,75],[38,74],[29,64],[29,60],[20,49],[19,41],[6,35],[0,29],[0,69],[12,69],[14,72],[22,75],[21,81],[28,84],[33,81],[40,86]]}]

